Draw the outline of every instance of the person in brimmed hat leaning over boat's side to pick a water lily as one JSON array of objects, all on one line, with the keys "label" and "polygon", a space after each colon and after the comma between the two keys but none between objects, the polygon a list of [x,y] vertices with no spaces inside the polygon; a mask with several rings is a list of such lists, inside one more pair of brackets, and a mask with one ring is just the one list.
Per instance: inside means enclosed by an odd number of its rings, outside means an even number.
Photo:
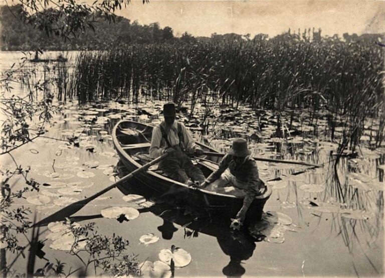
[{"label": "person in brimmed hat leaning over boat's side to pick a water lily", "polygon": [[231,227],[236,229],[243,224],[246,212],[254,198],[266,191],[265,184],[258,176],[257,163],[250,154],[247,141],[243,138],[235,139],[229,153],[222,159],[219,169],[199,186],[199,188],[205,188],[212,184],[214,189],[234,186],[246,193],[243,206],[231,223]]}]

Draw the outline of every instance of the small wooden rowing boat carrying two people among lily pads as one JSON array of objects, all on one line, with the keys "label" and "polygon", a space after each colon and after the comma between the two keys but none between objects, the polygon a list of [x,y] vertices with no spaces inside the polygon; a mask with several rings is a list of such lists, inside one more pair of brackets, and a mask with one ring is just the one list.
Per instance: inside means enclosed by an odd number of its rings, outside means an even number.
[{"label": "small wooden rowing boat carrying two people among lily pads", "polygon": [[[112,138],[114,147],[121,162],[129,172],[138,169],[150,160],[148,151],[151,145],[153,126],[130,120],[121,120],[113,128]],[[204,152],[218,153],[215,149],[197,143]],[[194,158],[194,164],[208,177],[218,169],[221,158],[218,156],[201,156]],[[180,204],[188,203],[208,210],[220,210],[230,218],[235,218],[243,204],[243,196],[230,193],[218,193],[209,189],[197,189],[172,180],[157,167],[138,173],[135,179],[159,196],[167,196],[178,200]],[[267,186],[265,194],[256,197],[246,214],[246,221],[261,219],[263,207],[269,199],[272,190]]]}]

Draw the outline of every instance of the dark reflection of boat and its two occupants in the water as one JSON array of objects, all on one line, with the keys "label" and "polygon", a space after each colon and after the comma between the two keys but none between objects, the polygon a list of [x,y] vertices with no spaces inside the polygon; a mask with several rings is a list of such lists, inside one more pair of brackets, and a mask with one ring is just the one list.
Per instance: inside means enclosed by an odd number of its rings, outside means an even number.
[{"label": "dark reflection of boat and its two occupants in the water", "polygon": [[184,237],[198,237],[200,233],[214,236],[222,251],[230,259],[229,263],[223,266],[223,274],[229,277],[239,277],[245,273],[246,270],[241,263],[253,255],[256,239],[249,235],[247,229],[240,231],[230,229],[228,216],[217,210],[207,212],[185,203],[181,205],[177,203],[177,200],[171,198],[167,198],[168,202],[165,203],[163,196],[157,196],[154,192],[149,192],[137,184],[135,186],[125,184],[119,187],[119,190],[125,195],[142,195],[155,203],[148,210],[162,218],[163,224],[157,229],[162,233],[163,239],[172,239],[174,232],[178,230],[174,223],[184,228]]}]

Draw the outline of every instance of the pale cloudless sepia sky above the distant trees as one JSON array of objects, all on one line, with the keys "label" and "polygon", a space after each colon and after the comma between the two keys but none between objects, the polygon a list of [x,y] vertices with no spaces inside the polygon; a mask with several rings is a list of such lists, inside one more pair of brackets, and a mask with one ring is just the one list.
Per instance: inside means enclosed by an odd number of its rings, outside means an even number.
[{"label": "pale cloudless sepia sky above the distant trees", "polygon": [[157,1],[133,0],[118,15],[139,24],[158,22],[175,36],[263,33],[275,36],[306,28],[322,29],[322,35],[385,33],[385,0],[313,1]]}]

